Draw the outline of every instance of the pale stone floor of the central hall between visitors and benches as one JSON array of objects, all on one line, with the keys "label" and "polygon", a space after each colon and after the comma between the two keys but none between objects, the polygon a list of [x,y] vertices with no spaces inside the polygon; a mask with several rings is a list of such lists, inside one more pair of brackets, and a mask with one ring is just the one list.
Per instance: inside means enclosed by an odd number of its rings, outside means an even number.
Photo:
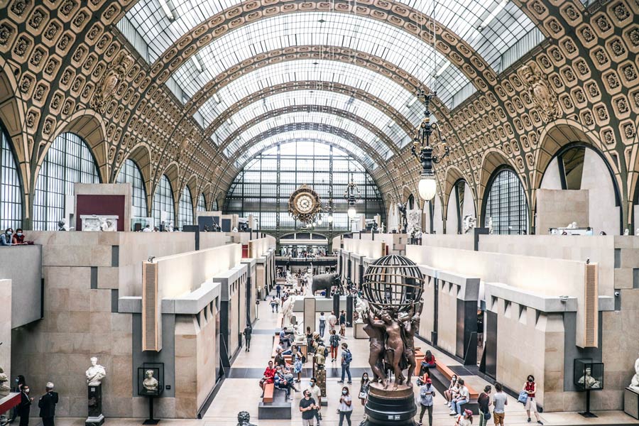
[{"label": "pale stone floor of the central hall between visitors and benches", "polygon": [[[293,419],[292,420],[258,420],[258,403],[260,401],[260,388],[258,386],[258,378],[261,377],[261,371],[266,368],[266,362],[271,354],[273,347],[272,334],[268,331],[275,329],[275,322],[278,315],[271,313],[271,307],[266,303],[259,305],[259,319],[256,322],[253,339],[251,341],[251,351],[244,349],[237,357],[233,364],[231,377],[227,378],[222,384],[222,388],[213,400],[202,420],[162,420],[160,425],[180,425],[180,426],[236,426],[237,413],[246,410],[251,413],[251,422],[258,426],[289,426],[301,425],[301,414],[297,410],[297,404],[301,398],[300,393],[293,394]],[[318,314],[319,316],[319,314]],[[261,331],[262,330],[262,331]],[[353,353],[352,371],[364,371],[368,367],[368,340],[354,339],[353,329],[347,329],[346,341]],[[427,349],[427,345],[422,342],[416,342],[417,346]],[[449,359],[447,356],[437,356],[439,361],[444,361],[447,365],[459,365],[456,361]],[[330,362],[329,362],[330,364]],[[307,364],[310,366],[310,363]],[[338,363],[332,363],[327,366],[327,395],[328,406],[322,408],[323,426],[337,426],[339,417],[336,414],[337,400],[341,394],[342,385],[337,383],[340,368]],[[247,378],[247,376],[249,378]],[[478,376],[462,376],[476,389],[481,389],[488,384]],[[308,384],[309,376],[302,375],[302,383],[297,386],[305,387]],[[351,395],[359,393],[359,381],[361,376],[353,377],[353,384],[349,386]],[[415,388],[417,389],[417,388]],[[449,416],[449,410],[444,406],[442,395],[435,397],[435,409],[433,413],[433,424],[435,426],[454,426],[454,417]],[[540,415],[545,425],[572,426],[572,425],[639,425],[638,420],[619,411],[608,411],[596,413],[599,417],[594,419],[586,419],[578,413],[542,413]],[[359,400],[354,401],[354,413],[351,417],[353,425],[359,425],[364,418],[364,407]],[[427,425],[427,418],[425,419]],[[526,421],[527,417],[523,410],[523,405],[516,403],[513,398],[509,398],[506,407],[506,425],[529,425]],[[55,420],[58,426],[83,426],[84,419],[60,418]],[[107,419],[106,425],[133,426],[141,425],[142,420],[128,419]],[[474,419],[474,424],[479,423],[479,418]],[[492,420],[488,422],[493,425]],[[40,422],[36,419],[31,420],[31,425],[39,426]],[[346,422],[344,422],[346,425]],[[536,425],[533,422],[531,425]]]}]

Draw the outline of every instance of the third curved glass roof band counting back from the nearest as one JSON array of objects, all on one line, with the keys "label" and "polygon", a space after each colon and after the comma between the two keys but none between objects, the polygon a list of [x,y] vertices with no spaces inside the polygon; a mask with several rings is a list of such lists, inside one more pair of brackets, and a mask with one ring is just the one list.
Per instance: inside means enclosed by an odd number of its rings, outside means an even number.
[{"label": "third curved glass roof band counting back from the nearest", "polygon": [[421,120],[420,110],[408,107],[413,93],[377,72],[332,60],[281,62],[249,72],[219,89],[217,96],[210,97],[198,111],[207,127],[215,117],[249,94],[276,84],[300,81],[316,81],[317,89],[329,89],[331,82],[362,89],[386,101],[413,125],[417,126]]}]

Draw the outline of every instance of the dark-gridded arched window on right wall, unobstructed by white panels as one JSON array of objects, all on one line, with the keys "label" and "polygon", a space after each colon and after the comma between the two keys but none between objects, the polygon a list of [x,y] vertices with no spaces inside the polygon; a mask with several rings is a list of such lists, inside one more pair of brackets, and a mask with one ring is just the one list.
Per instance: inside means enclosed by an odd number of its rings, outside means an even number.
[{"label": "dark-gridded arched window on right wall, unobstructed by white panels", "polygon": [[486,200],[486,226],[492,220],[493,234],[526,234],[528,206],[523,186],[513,170],[505,169],[493,178]]}]

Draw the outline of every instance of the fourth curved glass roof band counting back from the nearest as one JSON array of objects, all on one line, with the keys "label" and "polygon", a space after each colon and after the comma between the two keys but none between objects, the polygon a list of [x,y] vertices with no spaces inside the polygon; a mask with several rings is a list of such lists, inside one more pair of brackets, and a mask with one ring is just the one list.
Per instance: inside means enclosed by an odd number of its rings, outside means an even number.
[{"label": "fourth curved glass roof band counting back from the nearest", "polygon": [[224,124],[215,131],[214,138],[217,138],[219,141],[224,141],[231,133],[239,129],[239,127],[244,126],[244,124],[251,122],[257,116],[261,116],[275,109],[296,105],[319,105],[349,111],[377,126],[400,148],[412,140],[408,133],[398,126],[391,117],[379,109],[346,94],[329,92],[327,90],[296,90],[294,92],[278,93],[260,99],[240,109],[232,116],[231,121],[225,121]]}]

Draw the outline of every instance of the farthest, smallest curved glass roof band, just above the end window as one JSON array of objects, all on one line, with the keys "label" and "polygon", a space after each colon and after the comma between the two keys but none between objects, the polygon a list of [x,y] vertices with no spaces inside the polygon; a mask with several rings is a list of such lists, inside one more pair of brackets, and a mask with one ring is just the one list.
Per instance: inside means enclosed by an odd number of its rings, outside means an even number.
[{"label": "farthest, smallest curved glass roof band, just above the end window", "polygon": [[235,161],[235,167],[241,168],[241,166],[246,163],[249,158],[253,158],[256,153],[259,153],[264,148],[277,145],[278,143],[285,143],[295,140],[332,143],[334,146],[344,148],[344,150],[353,153],[353,155],[355,155],[358,160],[364,163],[369,170],[375,170],[378,166],[378,164],[373,160],[373,158],[371,158],[370,155],[368,155],[368,153],[362,151],[361,148],[356,146],[356,144],[352,141],[344,139],[341,136],[322,131],[295,130],[278,133],[268,138],[264,138],[262,141],[254,144],[253,146],[251,146],[251,148],[249,148],[246,152],[244,152],[237,158],[237,160]]}]

